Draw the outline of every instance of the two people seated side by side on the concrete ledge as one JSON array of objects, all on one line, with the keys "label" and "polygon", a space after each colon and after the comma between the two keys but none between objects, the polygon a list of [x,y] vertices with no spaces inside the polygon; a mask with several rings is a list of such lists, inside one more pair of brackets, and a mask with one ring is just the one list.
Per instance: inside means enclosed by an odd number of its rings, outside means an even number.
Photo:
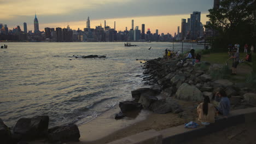
[{"label": "two people seated side by side on the concrete ledge", "polygon": [[216,113],[217,115],[220,114],[225,118],[228,118],[227,116],[229,115],[230,101],[229,98],[226,97],[225,91],[220,90],[217,92],[214,99],[219,101],[219,106],[214,107],[214,105],[210,103],[210,98],[208,96],[203,99],[203,103],[197,106],[197,113],[199,115],[198,121],[200,121],[203,125],[214,123]]}]

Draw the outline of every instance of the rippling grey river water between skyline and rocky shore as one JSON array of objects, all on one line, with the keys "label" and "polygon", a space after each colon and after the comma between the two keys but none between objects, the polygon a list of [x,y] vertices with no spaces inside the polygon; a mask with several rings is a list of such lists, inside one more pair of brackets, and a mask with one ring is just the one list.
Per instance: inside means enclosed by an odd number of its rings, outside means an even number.
[{"label": "rippling grey river water between skyline and rocky shore", "polygon": [[[0,118],[8,127],[37,115],[48,115],[50,127],[89,122],[119,101],[131,100],[131,91],[144,86],[142,64],[136,59],[158,58],[166,48],[172,50],[172,43],[4,44],[8,49],[0,49]],[[190,47],[184,43],[183,49]],[[174,51],[179,49],[182,44],[174,43]]]}]

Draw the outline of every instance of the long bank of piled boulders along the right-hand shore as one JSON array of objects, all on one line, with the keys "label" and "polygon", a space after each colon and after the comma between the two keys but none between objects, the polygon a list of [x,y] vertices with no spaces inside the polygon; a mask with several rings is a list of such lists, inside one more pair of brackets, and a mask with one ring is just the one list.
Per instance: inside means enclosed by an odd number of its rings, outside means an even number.
[{"label": "long bank of piled boulders along the right-hand shore", "polygon": [[[201,65],[205,65],[207,69],[200,69]],[[132,101],[120,102],[121,112],[115,118],[124,117],[125,113],[140,109],[155,113],[180,113],[183,110],[177,101],[200,103],[204,96],[213,100],[220,88],[224,89],[230,98],[231,109],[256,105],[256,95],[252,89],[237,86],[229,80],[213,79],[210,75],[213,67],[214,65],[208,62],[193,65],[191,59],[181,62],[178,57],[168,61],[163,58],[147,61],[143,65],[143,81],[148,87],[132,91]]]}]

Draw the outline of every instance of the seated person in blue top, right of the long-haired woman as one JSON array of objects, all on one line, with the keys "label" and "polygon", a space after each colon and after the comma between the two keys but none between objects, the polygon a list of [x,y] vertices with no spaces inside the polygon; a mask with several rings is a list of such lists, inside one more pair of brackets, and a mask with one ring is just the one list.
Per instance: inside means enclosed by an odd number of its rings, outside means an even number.
[{"label": "seated person in blue top, right of the long-haired woman", "polygon": [[220,89],[219,92],[215,94],[216,101],[219,101],[219,106],[216,107],[217,113],[223,115],[225,118],[228,118],[230,110],[230,100],[226,96],[226,93],[223,89]]}]

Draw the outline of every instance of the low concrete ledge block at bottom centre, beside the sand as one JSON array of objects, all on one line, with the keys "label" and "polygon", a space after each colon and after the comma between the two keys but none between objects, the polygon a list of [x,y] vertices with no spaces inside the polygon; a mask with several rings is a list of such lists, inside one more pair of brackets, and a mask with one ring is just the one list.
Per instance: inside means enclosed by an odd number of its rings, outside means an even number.
[{"label": "low concrete ledge block at bottom centre, beside the sand", "polygon": [[155,130],[148,130],[142,133],[124,137],[123,139],[108,144],[161,144],[162,135]]}]

